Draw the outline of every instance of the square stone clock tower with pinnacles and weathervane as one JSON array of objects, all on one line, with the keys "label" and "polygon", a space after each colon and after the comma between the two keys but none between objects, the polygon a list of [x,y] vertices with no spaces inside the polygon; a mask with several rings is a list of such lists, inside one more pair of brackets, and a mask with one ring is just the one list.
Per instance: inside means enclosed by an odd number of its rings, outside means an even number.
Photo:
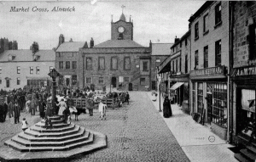
[{"label": "square stone clock tower with pinnacles and weathervane", "polygon": [[[124,8],[124,6],[122,6]],[[111,22],[111,40],[133,40],[133,23],[131,18],[126,22],[125,14],[121,14],[120,19]]]}]

